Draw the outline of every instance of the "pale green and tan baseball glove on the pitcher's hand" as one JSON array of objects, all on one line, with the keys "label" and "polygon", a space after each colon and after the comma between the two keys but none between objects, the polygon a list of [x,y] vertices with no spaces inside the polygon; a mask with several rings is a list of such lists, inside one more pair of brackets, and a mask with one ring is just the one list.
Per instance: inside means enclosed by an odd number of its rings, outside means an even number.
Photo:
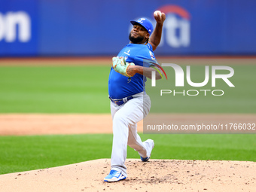
[{"label": "pale green and tan baseball glove on the pitcher's hand", "polygon": [[118,58],[116,56],[114,56],[112,58],[112,67],[114,69],[114,71],[126,76],[127,78],[133,77],[131,75],[127,74],[127,68],[129,66],[135,66],[133,62],[126,62],[124,58]]}]

